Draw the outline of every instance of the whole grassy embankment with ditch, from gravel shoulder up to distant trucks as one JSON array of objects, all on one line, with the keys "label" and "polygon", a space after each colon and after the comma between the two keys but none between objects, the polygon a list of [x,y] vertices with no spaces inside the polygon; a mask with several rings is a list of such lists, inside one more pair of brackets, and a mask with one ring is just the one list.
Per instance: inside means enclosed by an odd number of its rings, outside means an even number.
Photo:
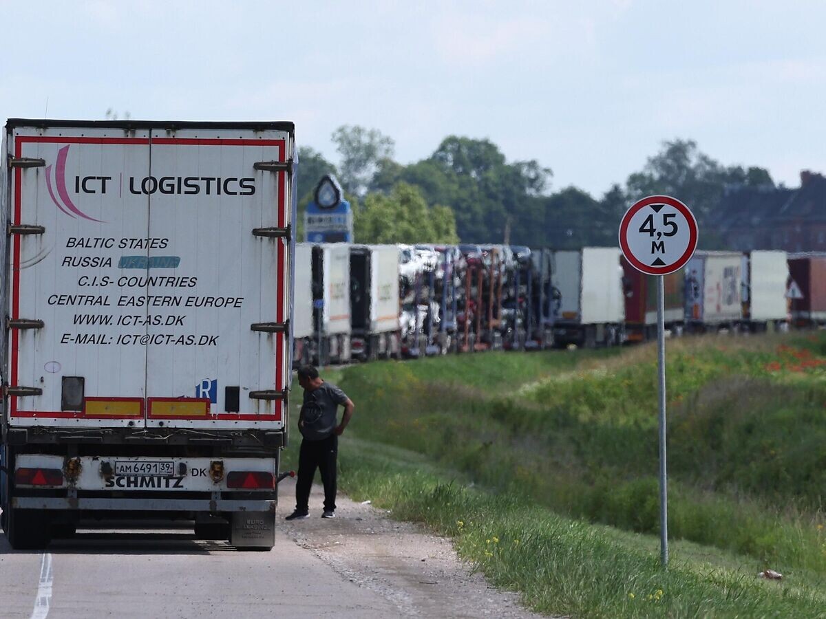
[{"label": "whole grassy embankment with ditch, from gravel shoulder up to distant trucks", "polygon": [[[650,346],[331,376],[358,403],[342,485],[453,536],[545,612],[826,616],[824,352],[800,335],[669,343],[667,571]],[[786,579],[756,579],[766,567]]]}]

